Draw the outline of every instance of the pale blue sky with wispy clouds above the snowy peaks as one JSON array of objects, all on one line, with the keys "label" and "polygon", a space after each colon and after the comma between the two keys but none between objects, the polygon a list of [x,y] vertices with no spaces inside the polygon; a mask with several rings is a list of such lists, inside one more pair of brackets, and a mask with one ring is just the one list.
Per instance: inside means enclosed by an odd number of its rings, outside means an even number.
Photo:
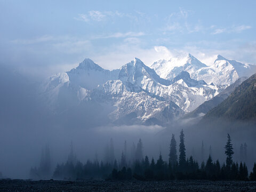
[{"label": "pale blue sky with wispy clouds above the snowy peaks", "polygon": [[256,64],[256,1],[0,0],[0,63],[39,77],[193,54]]}]

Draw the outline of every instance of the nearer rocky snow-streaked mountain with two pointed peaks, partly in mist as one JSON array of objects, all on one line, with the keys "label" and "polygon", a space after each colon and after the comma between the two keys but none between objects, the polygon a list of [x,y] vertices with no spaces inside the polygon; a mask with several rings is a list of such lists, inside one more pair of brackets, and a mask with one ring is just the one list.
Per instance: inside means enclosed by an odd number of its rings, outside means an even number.
[{"label": "nearer rocky snow-streaked mountain with two pointed peaks, partly in mist", "polygon": [[218,94],[217,86],[180,72],[170,81],[137,58],[111,71],[85,59],[77,68],[46,79],[41,98],[55,114],[97,105],[108,109],[110,122],[164,124]]}]

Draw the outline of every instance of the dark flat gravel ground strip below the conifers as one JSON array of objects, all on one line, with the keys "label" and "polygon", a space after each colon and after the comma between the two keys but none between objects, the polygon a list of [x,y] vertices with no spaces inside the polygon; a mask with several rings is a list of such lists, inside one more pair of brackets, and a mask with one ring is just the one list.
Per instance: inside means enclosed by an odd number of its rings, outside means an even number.
[{"label": "dark flat gravel ground strip below the conifers", "polygon": [[0,191],[256,191],[256,182],[0,180]]}]

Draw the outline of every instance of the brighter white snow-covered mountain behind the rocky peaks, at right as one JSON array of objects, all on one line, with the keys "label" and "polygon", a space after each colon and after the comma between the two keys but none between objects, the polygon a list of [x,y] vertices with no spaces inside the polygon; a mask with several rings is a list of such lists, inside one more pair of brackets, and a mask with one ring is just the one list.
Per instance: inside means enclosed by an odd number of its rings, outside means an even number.
[{"label": "brighter white snow-covered mountain behind the rocky peaks, at right", "polygon": [[255,69],[252,65],[228,60],[221,55],[217,55],[214,63],[205,65],[191,54],[188,54],[185,58],[156,61],[151,65],[151,68],[153,68],[160,77],[169,80],[172,80],[181,71],[187,71],[191,78],[197,81],[203,80],[207,84],[213,83],[217,85],[219,91],[235,83],[239,77],[250,76]]}]

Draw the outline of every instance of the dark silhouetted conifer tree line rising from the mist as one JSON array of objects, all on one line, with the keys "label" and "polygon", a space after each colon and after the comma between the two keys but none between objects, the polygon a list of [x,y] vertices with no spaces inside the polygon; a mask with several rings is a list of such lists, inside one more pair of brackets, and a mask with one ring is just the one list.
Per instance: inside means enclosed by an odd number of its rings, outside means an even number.
[{"label": "dark silhouetted conifer tree line rising from the mist", "polygon": [[[203,143],[202,143],[203,145]],[[246,145],[246,144],[245,144]],[[246,146],[247,147],[247,146]],[[242,149],[243,148],[243,149]],[[113,140],[105,149],[105,161],[88,160],[85,164],[76,158],[73,145],[71,144],[70,154],[67,162],[57,164],[53,175],[49,172],[49,148],[43,151],[41,164],[39,168],[31,168],[30,177],[33,179],[109,179],[109,180],[182,180],[182,179],[207,179],[207,180],[256,180],[256,164],[254,163],[252,172],[248,173],[246,163],[238,163],[233,161],[234,149],[231,143],[230,135],[227,135],[227,143],[225,146],[226,162],[220,164],[219,160],[213,161],[211,153],[206,162],[200,165],[193,156],[186,156],[185,134],[183,130],[180,132],[179,156],[177,153],[177,142],[175,135],[172,134],[169,150],[169,159],[164,161],[162,154],[158,159],[148,156],[143,157],[143,145],[140,139],[137,147],[132,147],[132,161],[127,161],[127,147],[124,143],[124,151],[122,152],[120,161],[117,162],[114,155]],[[243,153],[246,148],[241,147],[240,152]],[[46,171],[47,170],[47,171]]]}]

